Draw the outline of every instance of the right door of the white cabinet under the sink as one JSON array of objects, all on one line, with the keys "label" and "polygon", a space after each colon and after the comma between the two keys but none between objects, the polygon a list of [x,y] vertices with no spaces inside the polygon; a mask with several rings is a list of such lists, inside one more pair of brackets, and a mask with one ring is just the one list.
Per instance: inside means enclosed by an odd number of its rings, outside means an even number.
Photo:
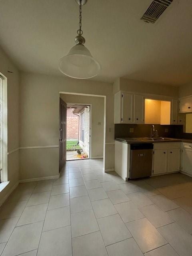
[{"label": "right door of the white cabinet under the sink", "polygon": [[180,148],[168,150],[168,172],[180,170]]}]

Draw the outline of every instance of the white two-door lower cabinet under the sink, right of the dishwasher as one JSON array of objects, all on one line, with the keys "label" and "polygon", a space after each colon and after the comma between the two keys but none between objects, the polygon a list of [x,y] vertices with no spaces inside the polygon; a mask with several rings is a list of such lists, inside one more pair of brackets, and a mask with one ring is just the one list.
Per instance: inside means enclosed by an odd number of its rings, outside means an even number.
[{"label": "white two-door lower cabinet under the sink, right of the dishwasher", "polygon": [[154,144],[152,175],[180,170],[180,143]]}]

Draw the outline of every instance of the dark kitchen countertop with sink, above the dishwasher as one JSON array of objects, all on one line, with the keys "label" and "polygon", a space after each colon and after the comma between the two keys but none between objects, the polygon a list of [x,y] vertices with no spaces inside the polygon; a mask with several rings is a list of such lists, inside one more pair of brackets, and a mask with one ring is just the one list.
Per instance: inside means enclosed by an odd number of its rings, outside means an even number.
[{"label": "dark kitchen countertop with sink, above the dishwasher", "polygon": [[115,140],[126,143],[126,144],[162,143],[162,142],[188,142],[188,143],[192,143],[191,139],[179,139],[179,138],[164,138],[164,140],[150,140],[148,138],[115,138]]}]

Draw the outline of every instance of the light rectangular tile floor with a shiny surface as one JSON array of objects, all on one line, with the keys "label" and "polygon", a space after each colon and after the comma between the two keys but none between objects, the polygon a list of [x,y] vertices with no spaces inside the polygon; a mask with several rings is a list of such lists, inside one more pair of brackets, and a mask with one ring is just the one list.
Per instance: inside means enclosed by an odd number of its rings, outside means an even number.
[{"label": "light rectangular tile floor with a shiny surface", "polygon": [[125,182],[102,160],[19,184],[0,208],[2,256],[192,256],[192,178]]}]

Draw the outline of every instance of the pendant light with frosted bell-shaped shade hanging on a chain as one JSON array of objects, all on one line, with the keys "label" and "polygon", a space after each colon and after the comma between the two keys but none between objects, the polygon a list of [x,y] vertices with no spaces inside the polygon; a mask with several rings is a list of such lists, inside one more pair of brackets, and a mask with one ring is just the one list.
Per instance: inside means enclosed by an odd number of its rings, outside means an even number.
[{"label": "pendant light with frosted bell-shaped shade hanging on a chain", "polygon": [[75,37],[76,45],[68,54],[60,59],[59,70],[72,78],[86,79],[96,76],[100,70],[100,64],[94,59],[90,51],[84,46],[85,38],[82,36],[82,5],[87,0],[76,0],[79,4],[79,29]]}]

